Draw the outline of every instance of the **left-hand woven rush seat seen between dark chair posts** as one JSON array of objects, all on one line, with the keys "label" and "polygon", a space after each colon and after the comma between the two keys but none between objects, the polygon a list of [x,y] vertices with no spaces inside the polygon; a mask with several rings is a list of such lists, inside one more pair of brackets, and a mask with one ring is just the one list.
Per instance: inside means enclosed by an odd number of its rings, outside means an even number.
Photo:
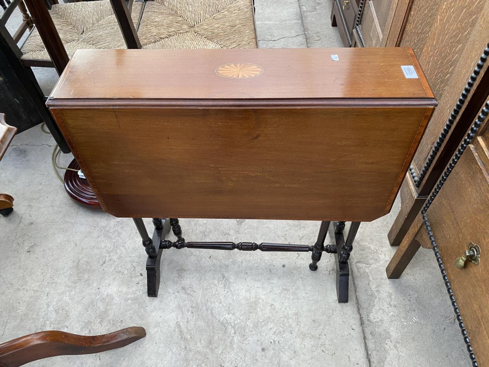
[{"label": "left-hand woven rush seat seen between dark chair posts", "polygon": [[[142,8],[142,2],[133,3],[134,25]],[[69,57],[80,48],[127,48],[109,0],[54,4],[49,14]],[[22,60],[50,60],[37,28],[27,37],[21,51]]]}]

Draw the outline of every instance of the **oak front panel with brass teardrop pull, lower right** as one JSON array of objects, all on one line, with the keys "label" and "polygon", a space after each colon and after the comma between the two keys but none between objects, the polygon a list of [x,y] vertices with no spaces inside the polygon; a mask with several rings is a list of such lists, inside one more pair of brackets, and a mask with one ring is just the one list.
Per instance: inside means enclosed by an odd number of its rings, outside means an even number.
[{"label": "oak front panel with brass teardrop pull, lower right", "polygon": [[[480,152],[481,156],[484,152]],[[426,216],[445,264],[470,343],[479,366],[489,364],[489,174],[476,151],[469,145],[453,169]],[[423,233],[424,232],[424,233]],[[429,244],[422,227],[415,239]],[[467,250],[469,242],[481,247],[478,266],[467,261],[457,269],[455,259]],[[448,298],[448,296],[447,296]],[[447,299],[448,302],[448,299]]]}]

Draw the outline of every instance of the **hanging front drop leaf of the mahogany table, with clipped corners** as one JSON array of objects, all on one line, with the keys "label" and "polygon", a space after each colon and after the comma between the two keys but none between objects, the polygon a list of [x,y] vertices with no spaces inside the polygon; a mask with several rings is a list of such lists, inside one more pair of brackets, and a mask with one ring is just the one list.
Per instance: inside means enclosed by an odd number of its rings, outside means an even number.
[{"label": "hanging front drop leaf of the mahogany table, with clipped corners", "polygon": [[53,112],[112,215],[371,221],[432,108]]}]

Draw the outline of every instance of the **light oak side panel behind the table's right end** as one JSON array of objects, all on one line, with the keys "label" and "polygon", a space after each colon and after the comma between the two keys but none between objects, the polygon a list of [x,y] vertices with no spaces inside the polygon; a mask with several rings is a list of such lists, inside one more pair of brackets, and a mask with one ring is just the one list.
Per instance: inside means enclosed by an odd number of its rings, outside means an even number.
[{"label": "light oak side panel behind the table's right end", "polygon": [[413,2],[400,46],[413,47],[439,102],[414,158],[420,169],[488,42],[488,16],[484,0]]}]

